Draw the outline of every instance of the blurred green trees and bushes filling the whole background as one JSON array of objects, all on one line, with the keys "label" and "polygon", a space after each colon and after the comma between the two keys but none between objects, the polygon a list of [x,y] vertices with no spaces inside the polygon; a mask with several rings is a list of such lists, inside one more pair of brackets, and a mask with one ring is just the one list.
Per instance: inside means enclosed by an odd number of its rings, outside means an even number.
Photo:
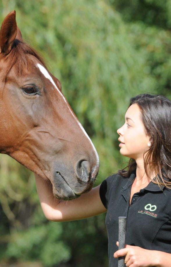
[{"label": "blurred green trees and bushes filling the whole background", "polygon": [[[170,0],[0,0],[40,51],[100,157],[95,185],[116,172],[117,133],[129,98],[171,98]],[[33,174],[0,155],[0,266],[107,267],[105,215],[45,219]]]}]

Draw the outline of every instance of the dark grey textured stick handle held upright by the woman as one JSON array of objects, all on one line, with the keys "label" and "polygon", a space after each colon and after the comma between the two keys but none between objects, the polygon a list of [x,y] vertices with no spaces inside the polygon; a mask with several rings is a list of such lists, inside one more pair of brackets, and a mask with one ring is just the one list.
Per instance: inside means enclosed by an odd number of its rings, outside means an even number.
[{"label": "dark grey textured stick handle held upright by the woman", "polygon": [[[125,247],[125,233],[126,233],[126,222],[127,217],[119,217],[119,248],[122,249]],[[118,258],[118,267],[124,267],[124,256]]]}]

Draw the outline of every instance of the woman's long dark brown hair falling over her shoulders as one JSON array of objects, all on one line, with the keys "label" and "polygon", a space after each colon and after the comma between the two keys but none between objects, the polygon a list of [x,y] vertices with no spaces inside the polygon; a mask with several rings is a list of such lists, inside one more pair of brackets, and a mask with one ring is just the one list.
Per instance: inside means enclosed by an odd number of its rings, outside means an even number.
[{"label": "woman's long dark brown hair falling over her shoulders", "polygon": [[[149,177],[150,167],[155,172],[153,182],[171,189],[171,101],[162,95],[141,94],[130,99],[129,107],[132,104],[139,106],[140,118],[152,143],[144,155],[145,173]],[[130,159],[128,166],[118,173],[129,177],[134,170],[136,161]]]}]

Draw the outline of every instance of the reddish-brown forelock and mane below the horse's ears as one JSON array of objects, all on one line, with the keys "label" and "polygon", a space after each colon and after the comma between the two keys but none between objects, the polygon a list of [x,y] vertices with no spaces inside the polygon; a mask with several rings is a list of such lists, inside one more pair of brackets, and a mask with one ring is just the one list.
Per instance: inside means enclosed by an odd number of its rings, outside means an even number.
[{"label": "reddish-brown forelock and mane below the horse's ears", "polygon": [[42,63],[42,65],[47,68],[44,60],[37,51],[23,42],[23,40],[15,39],[10,53],[5,58],[6,64],[1,68],[3,81],[6,81],[6,79],[8,79],[8,74],[14,65],[15,74],[17,76],[23,76],[26,73],[26,70],[28,69],[28,54],[35,56],[35,58],[37,58]]}]

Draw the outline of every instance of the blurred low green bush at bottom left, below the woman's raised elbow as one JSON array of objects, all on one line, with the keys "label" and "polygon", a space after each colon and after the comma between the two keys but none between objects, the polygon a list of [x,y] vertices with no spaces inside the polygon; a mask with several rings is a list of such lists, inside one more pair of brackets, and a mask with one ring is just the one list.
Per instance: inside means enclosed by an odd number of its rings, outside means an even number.
[{"label": "blurred low green bush at bottom left, below the woman's raised elbow", "polygon": [[[54,234],[55,233],[55,234]],[[70,248],[61,240],[60,223],[49,222],[29,227],[19,233],[11,234],[5,256],[13,259],[40,259],[44,266],[59,264],[70,259]]]}]

